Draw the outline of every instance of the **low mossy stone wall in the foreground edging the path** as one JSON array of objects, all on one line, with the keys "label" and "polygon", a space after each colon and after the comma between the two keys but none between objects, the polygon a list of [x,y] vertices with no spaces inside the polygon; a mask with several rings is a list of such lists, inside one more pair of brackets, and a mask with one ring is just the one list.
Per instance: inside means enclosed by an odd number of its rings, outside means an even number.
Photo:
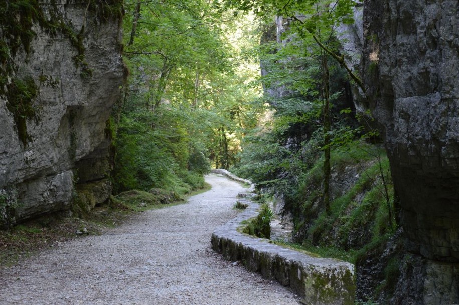
[{"label": "low mossy stone wall in the foreground edging the path", "polygon": [[243,220],[256,217],[259,205],[249,200],[246,210],[212,234],[212,249],[231,261],[242,261],[249,271],[289,286],[311,305],[353,305],[354,265],[316,258],[237,231]]}]

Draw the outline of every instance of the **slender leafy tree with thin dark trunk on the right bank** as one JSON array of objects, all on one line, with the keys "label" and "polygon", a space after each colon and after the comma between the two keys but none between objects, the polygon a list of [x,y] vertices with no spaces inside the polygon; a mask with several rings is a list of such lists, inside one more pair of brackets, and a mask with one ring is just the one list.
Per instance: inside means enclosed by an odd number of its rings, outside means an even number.
[{"label": "slender leafy tree with thin dark trunk on the right bank", "polygon": [[[255,14],[262,17],[284,16],[289,22],[289,31],[286,36],[299,37],[308,46],[313,40],[319,50],[311,48],[311,53],[318,52],[320,57],[321,86],[320,96],[323,103],[323,150],[324,150],[324,205],[327,212],[330,211],[330,152],[331,152],[331,104],[330,104],[330,68],[329,57],[332,57],[348,73],[348,75],[362,86],[359,78],[346,66],[343,56],[338,55],[335,30],[342,23],[352,23],[352,8],[355,5],[353,0],[225,0],[227,8],[236,8],[242,11],[253,10]],[[298,43],[296,41],[296,43]],[[309,50],[306,50],[307,52]],[[316,53],[317,54],[317,53]],[[314,56],[314,54],[311,54]],[[311,88],[307,86],[307,88]],[[305,90],[305,89],[303,89]],[[308,91],[307,89],[305,91]]]}]

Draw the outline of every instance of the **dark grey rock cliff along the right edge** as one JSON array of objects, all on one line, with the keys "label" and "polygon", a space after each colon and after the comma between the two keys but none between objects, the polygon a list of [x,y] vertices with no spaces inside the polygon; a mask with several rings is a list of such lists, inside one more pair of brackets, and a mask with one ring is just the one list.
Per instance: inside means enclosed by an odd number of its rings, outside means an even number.
[{"label": "dark grey rock cliff along the right edge", "polygon": [[447,0],[364,7],[367,96],[386,143],[407,249],[426,259],[425,276],[403,275],[422,281],[419,304],[459,302],[452,284],[459,276],[458,9]]}]

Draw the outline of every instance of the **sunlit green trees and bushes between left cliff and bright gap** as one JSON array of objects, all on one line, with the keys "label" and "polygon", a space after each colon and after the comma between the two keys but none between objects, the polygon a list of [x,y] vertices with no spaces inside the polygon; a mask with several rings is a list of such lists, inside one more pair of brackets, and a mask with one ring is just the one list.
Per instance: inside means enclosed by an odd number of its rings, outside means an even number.
[{"label": "sunlit green trees and bushes between left cliff and bright gap", "polygon": [[254,72],[238,71],[229,39],[236,19],[223,22],[207,1],[132,1],[123,27],[131,73],[113,115],[114,190],[201,188],[212,163],[236,162],[261,116],[257,89],[244,83]]}]

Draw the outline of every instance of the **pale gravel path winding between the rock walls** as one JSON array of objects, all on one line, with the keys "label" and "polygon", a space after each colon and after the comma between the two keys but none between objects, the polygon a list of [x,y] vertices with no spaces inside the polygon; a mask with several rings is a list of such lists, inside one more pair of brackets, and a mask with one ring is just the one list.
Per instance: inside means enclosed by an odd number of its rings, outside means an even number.
[{"label": "pale gravel path winding between the rock walls", "polygon": [[64,243],[0,270],[0,304],[298,304],[275,282],[210,249],[244,188],[219,175],[189,203],[140,214],[101,236]]}]

